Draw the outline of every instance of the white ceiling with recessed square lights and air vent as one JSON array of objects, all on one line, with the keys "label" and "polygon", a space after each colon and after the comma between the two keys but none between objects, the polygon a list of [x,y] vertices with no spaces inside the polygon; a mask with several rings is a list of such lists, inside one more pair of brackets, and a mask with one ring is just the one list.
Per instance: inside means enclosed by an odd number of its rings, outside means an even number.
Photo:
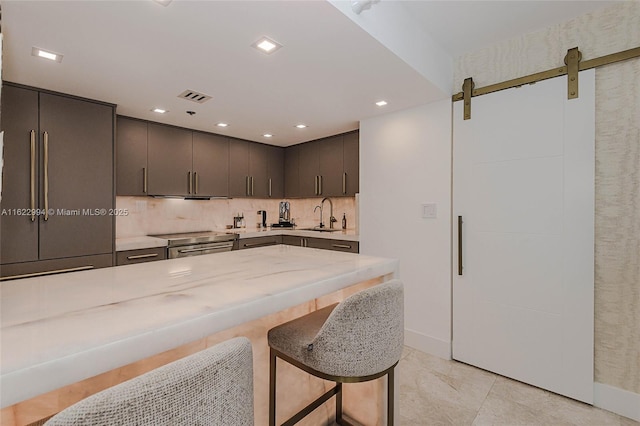
[{"label": "white ceiling with recessed square lights and air vent", "polygon": [[[399,3],[452,57],[609,4]],[[6,81],[111,102],[122,115],[280,146],[443,96],[326,1],[3,1],[2,32]],[[251,44],[263,35],[284,47],[258,52]],[[64,58],[36,58],[34,46]],[[185,89],[212,99],[178,98]],[[377,107],[380,99],[389,104]],[[158,115],[154,107],[169,112]],[[216,127],[221,121],[229,127]],[[296,129],[298,123],[309,127]]]}]

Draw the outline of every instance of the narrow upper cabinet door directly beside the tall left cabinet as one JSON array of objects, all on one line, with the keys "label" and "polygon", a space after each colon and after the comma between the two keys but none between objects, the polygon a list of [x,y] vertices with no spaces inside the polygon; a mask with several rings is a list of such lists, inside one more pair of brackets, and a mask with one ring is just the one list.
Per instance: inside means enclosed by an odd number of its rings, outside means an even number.
[{"label": "narrow upper cabinet door directly beside the tall left cabinet", "polygon": [[147,195],[148,123],[118,116],[116,119],[116,194]]}]

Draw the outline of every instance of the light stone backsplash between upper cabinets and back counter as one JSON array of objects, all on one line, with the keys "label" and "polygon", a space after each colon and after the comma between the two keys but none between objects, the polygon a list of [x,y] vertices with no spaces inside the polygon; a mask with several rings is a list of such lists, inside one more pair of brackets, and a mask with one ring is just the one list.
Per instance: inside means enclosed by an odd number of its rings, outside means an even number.
[{"label": "light stone backsplash between upper cabinets and back counter", "polygon": [[[245,225],[255,229],[258,210],[267,211],[267,224],[278,221],[278,207],[282,200],[234,198],[224,200],[182,200],[151,197],[116,197],[118,209],[127,211],[116,219],[116,238],[175,232],[224,229],[233,224],[233,217],[244,214]],[[316,226],[320,211],[313,209],[322,198],[287,200],[291,204],[291,218],[298,227]],[[334,227],[341,227],[342,214],[347,215],[347,228],[357,229],[356,198],[335,197],[333,215],[338,220]],[[323,219],[329,226],[329,203],[325,202]]]}]

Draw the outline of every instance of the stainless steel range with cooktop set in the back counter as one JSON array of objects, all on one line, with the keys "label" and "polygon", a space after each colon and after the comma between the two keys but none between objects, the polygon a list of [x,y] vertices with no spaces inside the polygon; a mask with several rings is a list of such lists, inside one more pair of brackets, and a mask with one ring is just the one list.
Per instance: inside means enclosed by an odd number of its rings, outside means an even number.
[{"label": "stainless steel range with cooktop set in the back counter", "polygon": [[166,239],[169,242],[167,245],[167,258],[175,259],[231,251],[233,244],[238,239],[238,234],[201,231],[150,235],[150,237]]}]

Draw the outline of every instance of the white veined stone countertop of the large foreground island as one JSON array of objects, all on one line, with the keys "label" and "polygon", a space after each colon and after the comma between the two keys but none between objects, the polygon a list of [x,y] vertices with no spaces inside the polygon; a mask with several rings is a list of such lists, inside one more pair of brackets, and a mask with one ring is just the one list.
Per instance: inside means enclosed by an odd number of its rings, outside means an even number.
[{"label": "white veined stone countertop of the large foreground island", "polygon": [[1,282],[1,407],[397,270],[277,245]]}]

